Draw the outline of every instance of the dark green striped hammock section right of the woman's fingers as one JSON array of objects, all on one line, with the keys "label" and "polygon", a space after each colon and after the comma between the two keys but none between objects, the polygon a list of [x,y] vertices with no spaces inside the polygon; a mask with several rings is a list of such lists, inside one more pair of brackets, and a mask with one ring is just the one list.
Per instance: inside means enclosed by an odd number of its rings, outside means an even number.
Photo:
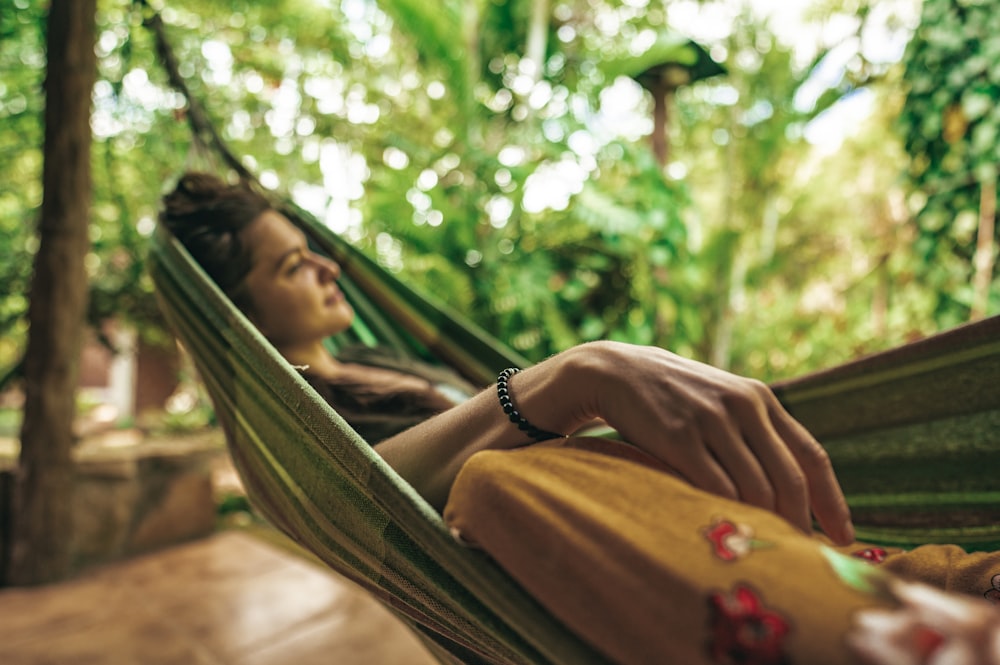
[{"label": "dark green striped hammock section right of the woman's fingers", "polygon": [[829,451],[860,539],[1000,549],[1000,317],[772,387]]}]

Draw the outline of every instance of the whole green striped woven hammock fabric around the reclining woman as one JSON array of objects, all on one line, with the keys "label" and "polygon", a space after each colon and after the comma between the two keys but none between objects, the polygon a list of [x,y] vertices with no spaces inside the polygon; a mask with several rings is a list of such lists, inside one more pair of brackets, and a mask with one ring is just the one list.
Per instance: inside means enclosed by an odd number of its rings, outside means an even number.
[{"label": "whole green striped woven hammock fabric around the reclining woman", "polygon": [[[308,215],[341,265],[352,341],[437,358],[486,384],[526,361],[417,294]],[[442,662],[603,663],[376,455],[160,228],[151,271],[250,500],[396,611]],[[334,342],[336,343],[336,342]],[[859,537],[1000,545],[1000,318],[775,386],[828,446]]]}]

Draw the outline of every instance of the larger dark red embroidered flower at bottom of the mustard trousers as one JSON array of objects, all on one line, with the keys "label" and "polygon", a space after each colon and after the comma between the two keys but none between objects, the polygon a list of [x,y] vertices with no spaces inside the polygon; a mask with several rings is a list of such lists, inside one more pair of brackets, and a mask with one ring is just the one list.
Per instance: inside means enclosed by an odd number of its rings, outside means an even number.
[{"label": "larger dark red embroidered flower at bottom of the mustard trousers", "polygon": [[765,609],[753,589],[740,585],[731,593],[713,593],[708,605],[712,631],[708,651],[713,661],[721,665],[788,663],[782,649],[788,621]]}]

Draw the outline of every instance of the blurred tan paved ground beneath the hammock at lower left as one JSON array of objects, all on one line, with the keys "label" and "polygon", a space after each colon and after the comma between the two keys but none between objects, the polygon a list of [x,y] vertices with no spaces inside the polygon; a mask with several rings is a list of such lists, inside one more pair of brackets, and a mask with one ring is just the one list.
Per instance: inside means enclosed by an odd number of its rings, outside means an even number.
[{"label": "blurred tan paved ground beneath the hammock at lower left", "polygon": [[4,665],[432,665],[382,605],[224,531],[57,585],[0,589]]}]

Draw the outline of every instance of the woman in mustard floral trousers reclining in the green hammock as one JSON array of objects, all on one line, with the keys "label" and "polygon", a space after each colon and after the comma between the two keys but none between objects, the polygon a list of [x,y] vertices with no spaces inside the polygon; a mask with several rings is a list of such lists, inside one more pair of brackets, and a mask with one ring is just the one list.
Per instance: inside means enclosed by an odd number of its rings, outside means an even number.
[{"label": "woman in mustard floral trousers reclining in the green hammock", "polygon": [[[340,269],[265,197],[188,174],[164,203],[161,222],[456,535],[613,660],[1000,659],[985,601],[944,596],[951,623],[928,626],[936,592],[901,581],[981,597],[996,557],[853,543],[828,456],[760,382],[610,342],[481,392],[335,358],[323,341],[353,318]],[[594,419],[629,445],[564,436]],[[841,553],[811,535],[813,516]]]}]

